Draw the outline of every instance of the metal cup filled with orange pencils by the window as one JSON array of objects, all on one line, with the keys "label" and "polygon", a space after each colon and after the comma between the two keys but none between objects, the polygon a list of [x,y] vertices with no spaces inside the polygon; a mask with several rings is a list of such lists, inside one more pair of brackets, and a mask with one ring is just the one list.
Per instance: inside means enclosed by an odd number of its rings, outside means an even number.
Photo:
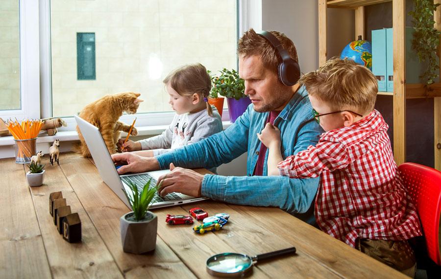
[{"label": "metal cup filled with orange pencils by the window", "polygon": [[17,119],[8,119],[5,124],[15,140],[15,163],[30,163],[31,157],[37,149],[37,137],[40,133],[42,120],[23,120],[20,124]]}]

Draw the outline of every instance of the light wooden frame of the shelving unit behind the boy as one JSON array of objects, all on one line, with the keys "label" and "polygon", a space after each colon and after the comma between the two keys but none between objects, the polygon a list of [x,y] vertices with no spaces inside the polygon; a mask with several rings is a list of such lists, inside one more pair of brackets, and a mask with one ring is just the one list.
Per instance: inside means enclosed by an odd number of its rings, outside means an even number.
[{"label": "light wooden frame of the shelving unit behind the boy", "polygon": [[[366,38],[364,7],[392,1],[393,25],[393,92],[379,92],[393,98],[393,155],[397,165],[406,162],[406,99],[434,97],[435,168],[441,170],[441,84],[431,86],[426,94],[424,84],[406,84],[405,80],[405,4],[403,0],[318,0],[319,2],[319,66],[327,60],[327,8],[355,10],[355,34]],[[441,0],[434,0],[441,3]],[[435,28],[441,30],[441,6],[434,13]]]}]

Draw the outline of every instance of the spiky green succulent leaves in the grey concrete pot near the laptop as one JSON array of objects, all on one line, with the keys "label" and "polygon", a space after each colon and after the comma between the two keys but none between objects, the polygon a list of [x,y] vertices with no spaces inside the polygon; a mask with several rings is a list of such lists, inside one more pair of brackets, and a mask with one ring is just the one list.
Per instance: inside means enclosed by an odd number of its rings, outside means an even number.
[{"label": "spiky green succulent leaves in the grey concrete pot near the laptop", "polygon": [[151,200],[155,196],[156,187],[150,187],[151,179],[144,185],[143,191],[141,194],[138,191],[138,187],[131,182],[129,183],[129,188],[132,192],[132,195],[127,195],[127,198],[130,200],[130,205],[132,207],[133,213],[135,215],[135,220],[140,221],[144,219],[144,215],[146,211],[151,206]]}]

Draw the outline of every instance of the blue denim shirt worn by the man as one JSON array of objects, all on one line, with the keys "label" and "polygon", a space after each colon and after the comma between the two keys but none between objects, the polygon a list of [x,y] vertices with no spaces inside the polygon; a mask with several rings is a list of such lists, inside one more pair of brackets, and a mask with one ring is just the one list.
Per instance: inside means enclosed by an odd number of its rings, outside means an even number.
[{"label": "blue denim shirt worn by the man", "polygon": [[[314,201],[319,178],[290,179],[284,176],[267,176],[268,150],[265,154],[264,176],[252,176],[261,144],[256,134],[264,128],[268,115],[268,112],[255,112],[251,104],[226,130],[156,156],[156,159],[161,169],[168,168],[172,162],[187,168],[211,168],[229,163],[248,151],[247,176],[206,174],[202,182],[202,196],[232,204],[278,207],[291,214],[306,212]],[[304,87],[294,94],[274,120],[274,125],[281,131],[284,159],[309,145],[316,145],[319,135],[323,132],[313,118],[311,103]],[[305,219],[311,216],[298,217]]]}]

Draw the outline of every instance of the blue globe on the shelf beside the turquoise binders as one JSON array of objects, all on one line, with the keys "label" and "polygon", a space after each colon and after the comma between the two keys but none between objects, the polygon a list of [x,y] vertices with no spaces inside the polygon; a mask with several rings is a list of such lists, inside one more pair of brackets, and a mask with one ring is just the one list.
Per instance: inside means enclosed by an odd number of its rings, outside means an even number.
[{"label": "blue globe on the shelf beside the turquoise binders", "polygon": [[343,48],[340,58],[354,60],[372,70],[372,45],[358,36],[357,41],[353,41]]}]

